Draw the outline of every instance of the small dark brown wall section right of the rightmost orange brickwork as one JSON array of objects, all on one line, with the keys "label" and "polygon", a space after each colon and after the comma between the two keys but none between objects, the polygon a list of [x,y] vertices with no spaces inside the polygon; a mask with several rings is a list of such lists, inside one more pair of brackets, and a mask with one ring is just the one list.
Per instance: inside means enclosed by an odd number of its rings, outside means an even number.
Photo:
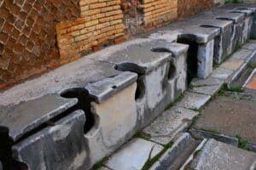
[{"label": "small dark brown wall section right of the rightmost orange brickwork", "polygon": [[189,17],[213,6],[212,0],[178,0],[177,14],[179,18]]}]

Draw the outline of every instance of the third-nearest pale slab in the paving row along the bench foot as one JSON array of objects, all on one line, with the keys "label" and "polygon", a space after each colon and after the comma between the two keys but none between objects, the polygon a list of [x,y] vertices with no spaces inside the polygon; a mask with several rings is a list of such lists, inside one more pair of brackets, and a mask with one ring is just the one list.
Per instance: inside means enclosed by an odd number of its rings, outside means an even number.
[{"label": "third-nearest pale slab in the paving row along the bench foot", "polygon": [[186,93],[181,102],[176,105],[187,109],[200,109],[211,99],[210,95]]}]

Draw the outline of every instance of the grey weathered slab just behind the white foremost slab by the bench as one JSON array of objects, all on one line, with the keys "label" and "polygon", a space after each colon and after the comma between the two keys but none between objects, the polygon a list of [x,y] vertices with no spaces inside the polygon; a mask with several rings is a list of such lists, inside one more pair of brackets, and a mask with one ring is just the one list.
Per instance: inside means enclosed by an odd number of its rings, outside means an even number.
[{"label": "grey weathered slab just behind the white foremost slab by the bench", "polygon": [[172,139],[189,126],[189,121],[198,115],[198,112],[174,106],[164,111],[154,122],[143,129],[150,140],[159,144],[168,144]]}]

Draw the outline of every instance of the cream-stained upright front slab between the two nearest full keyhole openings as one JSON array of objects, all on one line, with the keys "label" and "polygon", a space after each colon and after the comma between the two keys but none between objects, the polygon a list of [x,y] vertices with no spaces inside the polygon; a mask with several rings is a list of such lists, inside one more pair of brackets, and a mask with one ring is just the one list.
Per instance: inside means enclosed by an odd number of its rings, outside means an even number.
[{"label": "cream-stained upright front slab between the two nearest full keyhole openings", "polygon": [[137,83],[133,82],[107,100],[90,103],[96,124],[84,135],[90,149],[88,168],[117,150],[137,132],[136,89]]}]

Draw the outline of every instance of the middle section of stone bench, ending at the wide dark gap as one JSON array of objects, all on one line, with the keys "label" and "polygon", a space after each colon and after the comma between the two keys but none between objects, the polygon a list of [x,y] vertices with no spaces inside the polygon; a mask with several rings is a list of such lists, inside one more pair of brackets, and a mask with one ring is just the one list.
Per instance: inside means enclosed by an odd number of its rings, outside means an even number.
[{"label": "middle section of stone bench, ending at the wide dark gap", "polygon": [[[107,54],[89,57],[111,62],[119,71],[133,71],[139,75],[136,101],[140,117],[138,127],[143,127],[173,101],[175,92],[177,96],[185,90],[187,49],[182,44],[139,38],[109,48]],[[175,58],[172,51],[176,52]]]}]

